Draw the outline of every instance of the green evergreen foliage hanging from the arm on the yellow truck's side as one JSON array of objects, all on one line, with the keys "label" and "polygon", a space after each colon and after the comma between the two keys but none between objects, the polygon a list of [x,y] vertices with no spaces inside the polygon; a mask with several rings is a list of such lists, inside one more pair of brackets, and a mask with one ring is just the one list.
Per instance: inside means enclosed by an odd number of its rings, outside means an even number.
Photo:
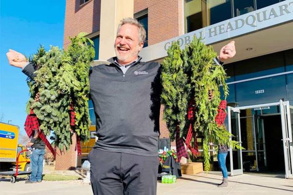
[{"label": "green evergreen foliage hanging from the arm on the yellow truck's side", "polygon": [[[41,46],[29,58],[36,69],[36,77],[27,81],[30,98],[26,111],[30,109],[39,119],[44,135],[54,132],[55,144],[68,150],[71,144],[70,104],[76,113],[75,129],[82,141],[89,139],[89,68],[94,59],[92,40],[85,33],[71,39],[67,50],[50,47],[49,51]],[[37,97],[37,98],[36,98]]]}]

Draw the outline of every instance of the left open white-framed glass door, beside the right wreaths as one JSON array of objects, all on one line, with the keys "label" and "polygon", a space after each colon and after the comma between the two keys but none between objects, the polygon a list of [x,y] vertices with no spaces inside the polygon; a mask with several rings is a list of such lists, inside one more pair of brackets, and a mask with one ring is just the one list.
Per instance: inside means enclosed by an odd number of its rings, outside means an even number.
[{"label": "left open white-framed glass door, beside the right wreaths", "polygon": [[[233,135],[230,139],[238,141],[241,146],[240,110],[230,106],[228,106],[228,129]],[[241,174],[243,174],[242,150],[232,150],[230,148],[230,176]]]}]

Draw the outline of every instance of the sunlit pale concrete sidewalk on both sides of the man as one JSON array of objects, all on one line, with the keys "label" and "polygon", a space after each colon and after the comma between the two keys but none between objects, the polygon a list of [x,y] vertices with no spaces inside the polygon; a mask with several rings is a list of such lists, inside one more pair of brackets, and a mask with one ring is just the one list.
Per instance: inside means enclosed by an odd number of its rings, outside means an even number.
[{"label": "sunlit pale concrete sidewalk on both sides of the man", "polygon": [[[229,177],[227,188],[218,188],[222,176],[218,173],[183,175],[175,184],[158,182],[157,195],[289,195],[293,194],[293,179],[284,176],[244,174]],[[0,179],[0,195],[92,195],[91,186],[81,180],[43,181],[25,184],[18,179]]]}]

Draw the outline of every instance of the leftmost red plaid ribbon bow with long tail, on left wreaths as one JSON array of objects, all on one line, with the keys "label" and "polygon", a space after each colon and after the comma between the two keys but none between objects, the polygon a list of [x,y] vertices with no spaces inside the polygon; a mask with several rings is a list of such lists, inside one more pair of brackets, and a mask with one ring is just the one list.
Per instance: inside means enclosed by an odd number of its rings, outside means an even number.
[{"label": "leftmost red plaid ribbon bow with long tail, on left wreaths", "polygon": [[24,123],[24,130],[28,137],[34,136],[35,132],[38,131],[38,134],[42,141],[46,144],[46,146],[49,148],[51,153],[56,156],[56,152],[50,142],[48,141],[47,137],[42,133],[42,131],[39,128],[39,121],[37,116],[35,115],[34,111],[31,109],[29,115],[27,115],[25,123]]}]

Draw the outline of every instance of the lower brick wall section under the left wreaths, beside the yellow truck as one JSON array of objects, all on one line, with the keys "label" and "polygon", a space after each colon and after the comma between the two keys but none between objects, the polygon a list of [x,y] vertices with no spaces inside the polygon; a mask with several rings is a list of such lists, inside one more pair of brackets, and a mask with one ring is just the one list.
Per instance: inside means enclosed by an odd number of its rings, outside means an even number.
[{"label": "lower brick wall section under the left wreaths, beside the yellow truck", "polygon": [[56,154],[56,164],[55,170],[72,170],[76,167],[76,160],[77,160],[77,151],[75,151],[76,146],[76,136],[73,135],[72,137],[72,145],[69,148],[69,151],[65,149],[60,151],[57,149]]}]

